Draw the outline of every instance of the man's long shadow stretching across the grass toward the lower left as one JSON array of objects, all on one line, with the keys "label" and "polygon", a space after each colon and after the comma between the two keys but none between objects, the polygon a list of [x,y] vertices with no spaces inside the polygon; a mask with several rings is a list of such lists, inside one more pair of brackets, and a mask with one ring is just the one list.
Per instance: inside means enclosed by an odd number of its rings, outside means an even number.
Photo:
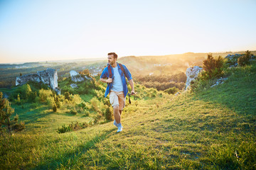
[{"label": "man's long shadow stretching across the grass toward the lower left", "polygon": [[57,159],[50,159],[50,162],[45,162],[43,164],[39,164],[33,169],[57,169],[60,167],[66,167],[70,166],[72,167],[73,164],[76,164],[79,157],[82,156],[83,153],[85,153],[88,149],[95,148],[95,145],[103,140],[106,140],[108,137],[110,137],[110,133],[114,131],[115,129],[108,130],[104,134],[100,136],[95,136],[88,142],[80,145],[77,147],[75,151],[67,152],[64,155],[60,154],[60,157]]}]

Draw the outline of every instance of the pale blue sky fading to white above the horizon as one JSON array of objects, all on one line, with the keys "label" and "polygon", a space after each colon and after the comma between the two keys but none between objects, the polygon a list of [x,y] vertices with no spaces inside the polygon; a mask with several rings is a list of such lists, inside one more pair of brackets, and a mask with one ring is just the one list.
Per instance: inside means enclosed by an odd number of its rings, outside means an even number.
[{"label": "pale blue sky fading to white above the horizon", "polygon": [[0,0],[0,63],[256,50],[256,0]]}]

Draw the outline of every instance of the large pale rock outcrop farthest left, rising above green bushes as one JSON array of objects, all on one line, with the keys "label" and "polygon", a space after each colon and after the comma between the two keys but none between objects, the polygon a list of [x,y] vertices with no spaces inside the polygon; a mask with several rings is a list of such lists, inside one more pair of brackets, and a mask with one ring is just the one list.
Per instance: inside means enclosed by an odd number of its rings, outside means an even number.
[{"label": "large pale rock outcrop farthest left, rising above green bushes", "polygon": [[55,69],[48,68],[43,71],[38,71],[36,74],[26,74],[16,77],[16,86],[26,84],[28,81],[48,84],[51,89],[60,94],[60,89],[58,89],[58,74]]}]

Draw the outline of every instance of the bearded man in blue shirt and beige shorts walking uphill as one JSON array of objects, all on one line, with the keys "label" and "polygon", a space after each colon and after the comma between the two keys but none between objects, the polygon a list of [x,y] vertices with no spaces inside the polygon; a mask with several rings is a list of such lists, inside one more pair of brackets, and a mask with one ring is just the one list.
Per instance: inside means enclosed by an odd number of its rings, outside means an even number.
[{"label": "bearded man in blue shirt and beige shorts walking uphill", "polygon": [[[123,64],[117,63],[117,54],[110,52],[107,54],[107,67],[103,69],[100,76],[100,81],[107,83],[107,89],[105,92],[105,97],[110,94],[110,103],[114,110],[114,125],[117,126],[117,132],[122,131],[121,124],[121,114],[125,106],[125,97],[128,93],[127,77],[130,86],[132,87],[131,94],[134,93],[134,82],[132,80],[132,75]],[[110,74],[112,77],[110,77]]]}]

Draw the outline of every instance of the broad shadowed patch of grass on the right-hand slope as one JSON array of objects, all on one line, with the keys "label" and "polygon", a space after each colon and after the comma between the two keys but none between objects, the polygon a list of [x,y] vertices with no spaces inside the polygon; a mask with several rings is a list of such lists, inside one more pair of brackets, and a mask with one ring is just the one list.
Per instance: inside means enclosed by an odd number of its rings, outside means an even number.
[{"label": "broad shadowed patch of grass on the right-hand slope", "polygon": [[[253,80],[254,77],[251,77]],[[227,106],[238,114],[256,115],[256,86],[254,81],[229,81],[196,93],[195,98]]]}]

